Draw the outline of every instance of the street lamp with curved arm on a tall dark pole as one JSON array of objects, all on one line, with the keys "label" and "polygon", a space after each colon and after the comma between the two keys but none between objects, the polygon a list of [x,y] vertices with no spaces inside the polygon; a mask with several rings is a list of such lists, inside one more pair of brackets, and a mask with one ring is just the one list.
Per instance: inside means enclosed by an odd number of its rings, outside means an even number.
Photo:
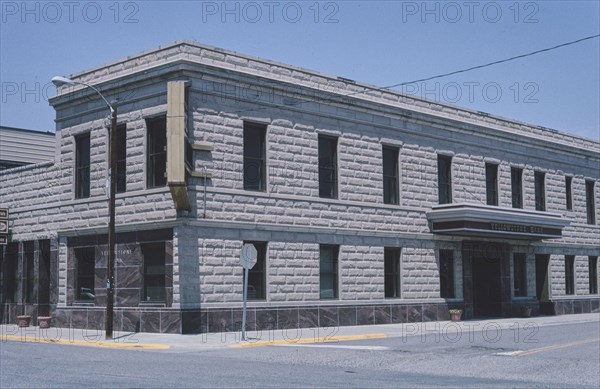
[{"label": "street lamp with curved arm on a tall dark pole", "polygon": [[104,100],[111,113],[110,126],[110,143],[108,146],[108,180],[110,183],[110,197],[108,200],[108,265],[106,269],[106,336],[105,338],[112,339],[113,333],[113,316],[115,303],[115,195],[117,192],[117,180],[113,179],[113,174],[117,172],[117,106],[111,104],[94,86],[81,81],[74,81],[67,77],[56,76],[52,77],[52,83],[56,86],[63,85],[84,85],[93,89]]}]

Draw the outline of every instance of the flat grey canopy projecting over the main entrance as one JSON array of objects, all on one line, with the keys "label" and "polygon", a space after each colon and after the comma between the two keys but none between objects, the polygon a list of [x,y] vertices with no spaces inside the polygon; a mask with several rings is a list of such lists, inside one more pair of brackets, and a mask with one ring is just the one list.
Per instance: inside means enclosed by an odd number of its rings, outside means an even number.
[{"label": "flat grey canopy projecting over the main entrance", "polygon": [[427,212],[436,234],[540,240],[562,237],[559,214],[474,204],[448,204]]}]

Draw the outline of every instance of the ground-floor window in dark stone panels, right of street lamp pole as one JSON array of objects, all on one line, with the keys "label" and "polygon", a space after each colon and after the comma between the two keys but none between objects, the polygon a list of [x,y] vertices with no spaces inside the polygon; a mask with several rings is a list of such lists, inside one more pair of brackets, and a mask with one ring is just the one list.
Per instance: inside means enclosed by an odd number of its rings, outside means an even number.
[{"label": "ground-floor window in dark stone panels, right of street lamp pole", "polygon": [[145,302],[165,301],[165,242],[143,243]]}]

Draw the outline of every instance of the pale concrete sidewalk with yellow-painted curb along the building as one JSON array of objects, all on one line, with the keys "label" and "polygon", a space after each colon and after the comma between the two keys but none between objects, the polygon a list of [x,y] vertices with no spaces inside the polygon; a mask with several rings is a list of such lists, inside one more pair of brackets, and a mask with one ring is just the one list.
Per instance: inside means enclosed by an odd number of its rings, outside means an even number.
[{"label": "pale concrete sidewalk with yellow-painted curb along the building", "polygon": [[75,328],[39,327],[20,328],[17,325],[0,325],[0,342],[55,343],[74,346],[108,347],[122,349],[151,349],[171,352],[209,351],[228,348],[261,347],[269,345],[293,345],[307,343],[344,342],[361,339],[402,338],[411,336],[447,337],[456,341],[463,334],[481,332],[494,340],[502,332],[516,328],[532,329],[567,323],[597,322],[600,313],[561,316],[538,316],[531,318],[494,318],[488,320],[467,320],[462,322],[438,321],[405,324],[382,324],[353,327],[320,327],[287,330],[250,331],[247,340],[241,339],[240,332],[209,334],[157,334],[115,332],[114,339],[104,340],[104,331]]}]

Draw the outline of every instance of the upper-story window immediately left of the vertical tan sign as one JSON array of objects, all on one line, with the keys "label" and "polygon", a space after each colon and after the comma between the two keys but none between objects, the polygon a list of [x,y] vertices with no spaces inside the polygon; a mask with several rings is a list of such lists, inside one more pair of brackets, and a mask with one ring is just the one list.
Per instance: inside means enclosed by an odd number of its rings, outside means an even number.
[{"label": "upper-story window immediately left of the vertical tan sign", "polygon": [[167,184],[167,119],[146,119],[148,131],[146,182],[148,188]]}]

